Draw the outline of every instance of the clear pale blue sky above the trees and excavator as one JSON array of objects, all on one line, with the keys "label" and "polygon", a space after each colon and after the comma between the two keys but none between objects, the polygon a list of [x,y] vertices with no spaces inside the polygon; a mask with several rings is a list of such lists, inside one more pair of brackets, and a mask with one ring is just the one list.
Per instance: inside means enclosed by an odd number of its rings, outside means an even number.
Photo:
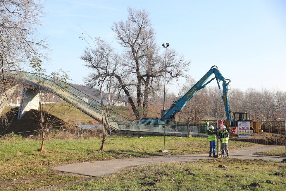
[{"label": "clear pale blue sky above the trees and excavator", "polygon": [[[231,80],[231,88],[286,91],[285,0],[47,0],[44,6],[43,27],[38,30],[52,50],[50,62],[44,63],[48,75],[62,69],[73,83],[83,84],[88,70],[79,59],[86,46],[78,38],[82,29],[120,52],[110,28],[113,22],[127,19],[130,6],[150,13],[158,45],[168,42],[190,59],[188,73],[195,80],[216,65]],[[163,54],[165,49],[161,51]],[[180,85],[184,82],[182,79]],[[180,87],[172,87],[178,93]]]}]

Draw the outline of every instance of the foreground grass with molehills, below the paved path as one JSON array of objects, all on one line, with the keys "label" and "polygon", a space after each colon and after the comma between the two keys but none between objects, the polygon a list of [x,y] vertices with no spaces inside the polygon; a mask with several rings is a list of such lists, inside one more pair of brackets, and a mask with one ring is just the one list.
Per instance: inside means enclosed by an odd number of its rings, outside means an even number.
[{"label": "foreground grass with molehills, below the paved path", "polygon": [[285,172],[277,161],[206,159],[128,168],[55,190],[285,190]]}]

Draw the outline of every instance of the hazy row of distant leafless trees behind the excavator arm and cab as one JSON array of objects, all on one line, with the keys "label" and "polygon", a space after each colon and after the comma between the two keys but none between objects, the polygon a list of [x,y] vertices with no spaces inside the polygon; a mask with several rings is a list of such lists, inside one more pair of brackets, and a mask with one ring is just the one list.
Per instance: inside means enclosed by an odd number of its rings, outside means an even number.
[{"label": "hazy row of distant leafless trees behind the excavator arm and cab", "polygon": [[[180,89],[179,97],[184,95],[195,83],[192,77]],[[249,88],[246,91],[230,89],[229,104],[232,112],[247,112],[248,117],[258,121],[273,121],[286,119],[286,92],[262,88],[256,90]],[[198,91],[189,100],[180,113],[181,118],[186,120],[201,120],[203,118],[226,119],[225,108],[218,87],[210,86]],[[174,98],[177,100],[179,97]],[[195,117],[196,115],[199,115]]]}]

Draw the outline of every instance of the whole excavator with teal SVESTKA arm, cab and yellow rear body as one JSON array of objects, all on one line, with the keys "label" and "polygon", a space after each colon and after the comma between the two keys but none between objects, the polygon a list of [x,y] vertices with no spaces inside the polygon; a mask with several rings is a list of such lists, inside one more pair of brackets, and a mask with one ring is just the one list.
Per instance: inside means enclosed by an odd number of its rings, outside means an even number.
[{"label": "whole excavator with teal SVESTKA arm, cab and yellow rear body", "polygon": [[[212,74],[214,74],[214,77],[208,81]],[[194,94],[197,91],[205,88],[206,85],[208,85],[214,79],[216,79],[219,89],[221,89],[220,82],[222,81],[222,99],[226,114],[225,126],[235,126],[235,122],[237,121],[250,121],[250,126],[254,132],[262,132],[260,122],[253,121],[251,119],[248,120],[246,112],[233,112],[231,117],[231,109],[228,103],[228,84],[230,83],[230,80],[223,77],[217,66],[212,66],[211,69],[192,88],[190,88],[184,96],[173,102],[170,109],[161,110],[161,120],[175,120],[175,114],[180,112],[185,107],[186,103],[192,99]]]}]

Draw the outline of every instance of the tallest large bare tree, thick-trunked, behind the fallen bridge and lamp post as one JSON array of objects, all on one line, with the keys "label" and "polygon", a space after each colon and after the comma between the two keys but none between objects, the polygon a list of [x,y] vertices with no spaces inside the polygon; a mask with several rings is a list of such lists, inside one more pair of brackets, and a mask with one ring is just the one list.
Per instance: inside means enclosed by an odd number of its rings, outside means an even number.
[{"label": "tallest large bare tree, thick-trunked, behind the fallen bridge and lamp post", "polygon": [[[87,81],[96,80],[101,76],[114,76],[125,96],[128,98],[135,117],[147,116],[149,97],[154,96],[158,88],[162,87],[165,72],[164,56],[159,55],[159,47],[156,45],[155,32],[151,26],[149,13],[142,10],[128,9],[127,21],[114,23],[111,30],[115,32],[118,43],[123,47],[122,57],[118,62],[117,69],[106,72],[99,70],[100,75],[90,74]],[[86,62],[85,66],[95,68],[90,57],[94,50],[87,49],[81,59]],[[101,52],[104,55],[104,52]],[[114,53],[113,53],[114,54]],[[101,58],[103,55],[98,55]],[[185,62],[183,56],[179,56],[172,49],[167,55],[167,81],[184,75],[189,62]],[[132,96],[135,91],[135,97]]]}]

